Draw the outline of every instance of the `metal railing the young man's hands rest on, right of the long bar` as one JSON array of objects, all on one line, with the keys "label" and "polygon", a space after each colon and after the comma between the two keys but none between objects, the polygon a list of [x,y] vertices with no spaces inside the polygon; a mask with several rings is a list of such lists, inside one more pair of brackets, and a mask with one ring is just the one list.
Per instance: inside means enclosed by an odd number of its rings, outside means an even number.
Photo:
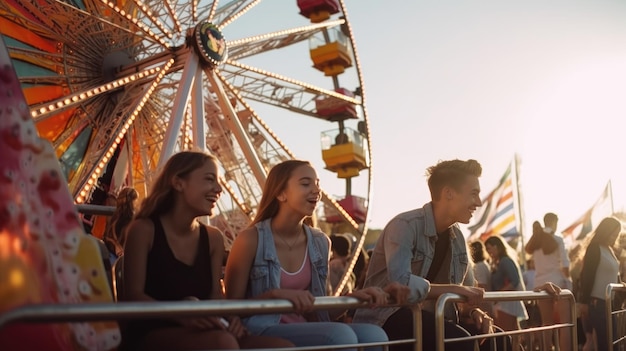
[{"label": "metal railing the young man's hands rest on, right of the long bar", "polygon": [[[546,300],[546,299],[554,299],[553,295],[548,294],[545,291],[534,292],[534,291],[488,291],[485,292],[483,301],[486,302],[499,302],[499,301],[528,301],[528,300]],[[558,329],[561,328],[572,328],[572,345],[577,345],[577,335],[576,335],[576,300],[574,299],[574,295],[571,291],[563,289],[561,290],[561,294],[558,297],[559,299],[568,299],[570,302],[570,316],[572,319],[571,323],[557,323],[550,326],[543,327],[531,327],[522,330],[513,330],[513,331],[504,331],[495,334],[480,334],[474,336],[467,336],[462,338],[449,338],[446,339],[443,333],[444,331],[444,310],[445,306],[448,303],[452,302],[465,302],[466,299],[458,294],[453,293],[445,293],[439,296],[437,302],[435,303],[435,327],[437,330],[435,336],[435,345],[437,346],[437,350],[444,350],[444,346],[446,342],[453,341],[469,341],[469,340],[479,340],[484,338],[497,338],[505,335],[518,335],[523,333],[531,333],[537,331],[545,331],[545,330],[555,330],[558,333]],[[557,335],[558,336],[558,335]],[[558,340],[558,337],[556,338]],[[515,345],[514,345],[515,346]],[[556,350],[559,350],[558,343],[556,343]]]}]

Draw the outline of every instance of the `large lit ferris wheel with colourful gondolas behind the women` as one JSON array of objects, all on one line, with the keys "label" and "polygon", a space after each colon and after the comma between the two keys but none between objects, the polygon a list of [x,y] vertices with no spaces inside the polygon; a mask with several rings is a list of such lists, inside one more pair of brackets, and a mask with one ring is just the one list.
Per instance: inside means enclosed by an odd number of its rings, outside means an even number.
[{"label": "large lit ferris wheel with colourful gondolas behind the women", "polygon": [[292,149],[315,149],[322,187],[342,189],[323,192],[318,219],[367,231],[370,136],[346,6],[267,2],[0,3],[31,115],[76,203],[104,204],[124,185],[144,196],[173,153],[207,150],[225,189],[211,222],[229,245],[268,170],[303,157]]}]

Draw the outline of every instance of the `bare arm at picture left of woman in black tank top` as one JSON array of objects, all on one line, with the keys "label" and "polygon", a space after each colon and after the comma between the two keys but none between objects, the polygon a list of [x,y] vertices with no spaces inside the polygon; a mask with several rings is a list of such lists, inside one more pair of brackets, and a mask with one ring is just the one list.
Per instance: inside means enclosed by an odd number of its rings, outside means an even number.
[{"label": "bare arm at picture left of woman in black tank top", "polygon": [[154,240],[154,225],[148,219],[137,219],[128,226],[124,247],[124,299],[130,301],[155,301],[146,295],[146,269],[148,253]]}]

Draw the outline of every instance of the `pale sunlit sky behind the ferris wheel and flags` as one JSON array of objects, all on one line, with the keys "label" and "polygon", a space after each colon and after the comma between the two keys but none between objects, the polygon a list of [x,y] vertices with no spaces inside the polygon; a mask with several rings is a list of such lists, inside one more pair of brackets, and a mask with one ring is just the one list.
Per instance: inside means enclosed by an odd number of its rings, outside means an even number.
[{"label": "pale sunlit sky behind the ferris wheel and flags", "polygon": [[[271,17],[254,23],[306,25],[295,0],[266,2]],[[372,134],[371,228],[429,201],[425,169],[439,160],[477,159],[487,195],[515,153],[528,228],[552,211],[564,229],[609,180],[615,209],[624,209],[626,2],[346,4]],[[307,54],[289,56],[288,65],[317,82],[324,77],[310,69]],[[306,123],[316,122],[303,118],[269,123],[300,158],[313,161],[323,186],[333,183],[319,141],[305,142]]]}]

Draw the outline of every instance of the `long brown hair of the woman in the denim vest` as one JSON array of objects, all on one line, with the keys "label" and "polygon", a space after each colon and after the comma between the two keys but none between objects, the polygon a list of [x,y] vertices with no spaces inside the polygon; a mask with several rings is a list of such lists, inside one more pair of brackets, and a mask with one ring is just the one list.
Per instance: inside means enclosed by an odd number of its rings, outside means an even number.
[{"label": "long brown hair of the woman in the denim vest", "polygon": [[278,213],[278,195],[285,190],[291,174],[300,166],[311,166],[311,163],[302,160],[287,160],[272,167],[263,186],[259,210],[250,226],[272,218]]}]

